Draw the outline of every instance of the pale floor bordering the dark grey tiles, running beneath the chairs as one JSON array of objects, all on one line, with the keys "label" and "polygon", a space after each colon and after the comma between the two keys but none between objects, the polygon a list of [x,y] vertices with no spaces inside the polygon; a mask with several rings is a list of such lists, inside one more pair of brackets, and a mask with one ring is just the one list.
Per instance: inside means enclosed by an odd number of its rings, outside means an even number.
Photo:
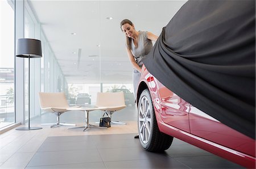
[{"label": "pale floor bordering the dark grey tiles, running beneath the chairs", "polygon": [[[50,128],[43,126],[41,130],[20,131],[12,129],[0,135],[0,168],[25,168],[44,141],[51,137],[79,137],[100,136],[102,134],[137,133],[135,121],[126,121],[127,125],[114,125],[108,129],[89,129],[82,132],[83,128],[68,129],[70,126]],[[84,124],[79,124],[80,126]],[[33,126],[40,126],[33,124]],[[97,134],[97,135],[96,135]],[[82,145],[81,145],[82,146]],[[74,146],[71,147],[73,150]],[[82,149],[82,147],[81,147]],[[63,151],[61,154],[65,154]]]}]

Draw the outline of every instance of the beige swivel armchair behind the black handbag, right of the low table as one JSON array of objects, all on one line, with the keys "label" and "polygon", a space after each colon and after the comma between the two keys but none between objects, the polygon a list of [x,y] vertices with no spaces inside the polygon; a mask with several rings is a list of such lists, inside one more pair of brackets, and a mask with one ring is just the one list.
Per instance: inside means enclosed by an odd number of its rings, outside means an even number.
[{"label": "beige swivel armchair behind the black handbag, right of the low table", "polygon": [[[115,111],[119,111],[126,107],[125,96],[123,95],[123,92],[98,92],[96,107],[107,112],[110,115],[110,118],[112,118],[112,114]],[[113,124],[126,124],[125,122],[113,120],[111,120],[111,122]]]}]

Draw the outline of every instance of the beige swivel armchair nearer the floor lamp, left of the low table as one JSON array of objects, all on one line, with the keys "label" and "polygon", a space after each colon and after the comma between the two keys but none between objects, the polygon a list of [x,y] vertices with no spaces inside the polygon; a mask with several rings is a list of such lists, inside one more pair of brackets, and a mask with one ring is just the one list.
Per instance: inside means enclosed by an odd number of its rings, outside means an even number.
[{"label": "beige swivel armchair nearer the floor lamp, left of the low table", "polygon": [[39,92],[39,101],[43,111],[55,113],[57,116],[57,123],[51,125],[51,128],[61,125],[76,126],[76,124],[60,122],[60,115],[69,111],[68,108],[71,108],[63,92]]}]

